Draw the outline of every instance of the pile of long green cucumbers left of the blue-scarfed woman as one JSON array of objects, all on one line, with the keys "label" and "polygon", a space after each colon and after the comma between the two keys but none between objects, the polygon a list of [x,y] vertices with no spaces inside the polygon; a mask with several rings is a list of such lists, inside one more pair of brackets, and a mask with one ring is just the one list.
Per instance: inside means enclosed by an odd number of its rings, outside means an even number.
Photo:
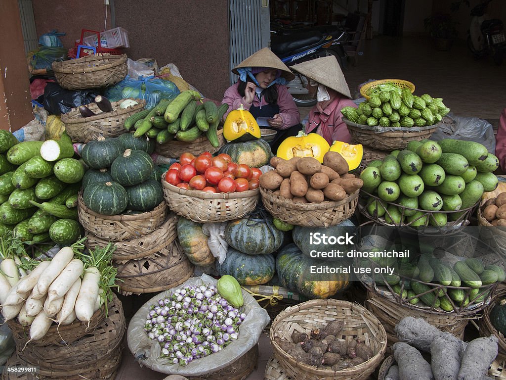
[{"label": "pile of long green cucumbers left of the blue-scarfed woman", "polygon": [[181,92],[174,99],[161,99],[151,108],[139,111],[125,120],[126,130],[135,128],[134,136],[156,138],[159,144],[173,139],[193,142],[205,135],[213,147],[220,146],[218,125],[228,109],[210,100],[202,101],[193,90]]}]

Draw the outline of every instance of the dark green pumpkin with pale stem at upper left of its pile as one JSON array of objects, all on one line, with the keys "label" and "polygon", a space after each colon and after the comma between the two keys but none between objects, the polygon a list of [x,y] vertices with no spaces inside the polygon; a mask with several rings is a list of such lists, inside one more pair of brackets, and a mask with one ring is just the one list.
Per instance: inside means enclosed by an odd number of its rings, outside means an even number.
[{"label": "dark green pumpkin with pale stem at upper left of its pile", "polygon": [[117,139],[99,136],[82,148],[81,158],[92,169],[108,168],[123,150],[123,145]]}]

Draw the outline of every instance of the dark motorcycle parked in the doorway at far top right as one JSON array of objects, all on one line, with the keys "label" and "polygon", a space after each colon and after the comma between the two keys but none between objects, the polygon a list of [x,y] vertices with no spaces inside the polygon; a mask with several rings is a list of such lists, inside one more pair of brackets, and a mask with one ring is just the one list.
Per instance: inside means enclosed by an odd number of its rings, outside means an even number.
[{"label": "dark motorcycle parked in the doorway at far top right", "polygon": [[489,19],[485,13],[491,1],[486,0],[471,10],[468,47],[477,58],[491,56],[500,65],[506,52],[506,38],[502,21]]}]

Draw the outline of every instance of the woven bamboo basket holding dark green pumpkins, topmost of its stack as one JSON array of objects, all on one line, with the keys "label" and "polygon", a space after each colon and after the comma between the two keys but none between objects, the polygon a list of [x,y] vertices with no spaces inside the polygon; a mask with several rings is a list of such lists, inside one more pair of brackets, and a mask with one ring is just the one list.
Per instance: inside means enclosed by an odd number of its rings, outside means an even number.
[{"label": "woven bamboo basket holding dark green pumpkins, topmost of its stack", "polygon": [[152,211],[132,215],[101,215],[86,207],[82,192],[77,199],[77,216],[86,231],[113,242],[132,240],[156,231],[165,221],[167,205],[161,202]]}]

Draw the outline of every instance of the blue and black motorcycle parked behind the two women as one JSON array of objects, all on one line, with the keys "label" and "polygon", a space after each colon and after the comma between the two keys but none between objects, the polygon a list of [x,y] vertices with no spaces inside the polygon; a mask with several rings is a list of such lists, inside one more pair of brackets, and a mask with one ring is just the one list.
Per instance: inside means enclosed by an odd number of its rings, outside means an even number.
[{"label": "blue and black motorcycle parked behind the two women", "polygon": [[[297,29],[285,34],[271,34],[271,50],[288,67],[320,57],[333,55],[343,67],[346,53],[343,44],[348,41],[348,33],[337,26],[316,26]],[[286,84],[288,92],[299,106],[316,104],[316,88],[309,89],[309,81],[300,73],[293,71],[295,79]]]}]

